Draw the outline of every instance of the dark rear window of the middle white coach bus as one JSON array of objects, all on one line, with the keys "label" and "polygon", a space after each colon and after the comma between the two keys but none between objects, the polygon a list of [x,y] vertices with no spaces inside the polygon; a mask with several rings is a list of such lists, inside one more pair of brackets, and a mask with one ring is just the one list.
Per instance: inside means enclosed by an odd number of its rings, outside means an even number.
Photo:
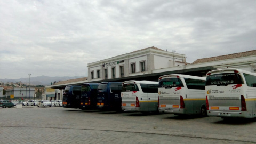
[{"label": "dark rear window of the middle white coach bus", "polygon": [[158,87],[184,87],[179,78],[163,78],[160,79]]}]

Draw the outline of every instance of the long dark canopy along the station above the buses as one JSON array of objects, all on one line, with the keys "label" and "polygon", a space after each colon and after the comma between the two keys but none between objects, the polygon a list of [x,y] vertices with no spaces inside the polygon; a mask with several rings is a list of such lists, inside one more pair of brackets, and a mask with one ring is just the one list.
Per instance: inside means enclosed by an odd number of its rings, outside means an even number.
[{"label": "long dark canopy along the station above the buses", "polygon": [[[213,67],[200,67],[200,68],[191,68],[191,69],[183,69],[183,70],[174,70],[174,71],[165,71],[161,73],[154,74],[145,74],[145,75],[137,75],[137,76],[129,76],[129,77],[120,77],[120,78],[111,78],[111,79],[102,79],[99,81],[90,81],[87,83],[101,83],[101,82],[124,82],[128,80],[148,80],[158,82],[158,78],[163,75],[170,74],[183,74],[183,75],[191,75],[191,76],[205,76],[208,71],[215,70],[217,68]],[[72,85],[82,85],[84,82],[77,82]],[[66,86],[70,84],[62,84],[62,85],[51,85],[52,89],[65,89]]]}]

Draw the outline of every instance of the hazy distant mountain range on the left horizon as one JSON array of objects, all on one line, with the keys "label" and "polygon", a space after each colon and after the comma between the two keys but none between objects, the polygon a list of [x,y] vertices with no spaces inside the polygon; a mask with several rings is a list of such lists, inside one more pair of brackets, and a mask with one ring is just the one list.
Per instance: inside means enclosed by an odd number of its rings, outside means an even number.
[{"label": "hazy distant mountain range on the left horizon", "polygon": [[[49,77],[49,76],[37,76],[37,77],[30,77],[30,85],[51,85],[52,82],[59,82],[59,81],[66,81],[69,79],[76,79],[82,78],[78,76],[74,77]],[[0,82],[3,83],[17,83],[22,82],[23,84],[29,84],[29,78],[20,78],[20,79],[0,79]]]}]

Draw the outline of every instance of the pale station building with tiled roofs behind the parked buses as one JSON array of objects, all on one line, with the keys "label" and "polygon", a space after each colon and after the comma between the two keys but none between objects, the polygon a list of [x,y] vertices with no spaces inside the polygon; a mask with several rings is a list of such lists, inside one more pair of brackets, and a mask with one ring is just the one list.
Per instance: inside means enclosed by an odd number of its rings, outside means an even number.
[{"label": "pale station building with tiled roofs behind the parked buses", "polygon": [[67,85],[124,82],[131,79],[158,81],[159,76],[167,74],[205,76],[210,70],[222,68],[239,68],[255,72],[256,50],[197,59],[193,63],[187,63],[185,54],[168,52],[153,46],[88,63],[87,67],[88,77],[57,82],[46,88],[63,90]]}]

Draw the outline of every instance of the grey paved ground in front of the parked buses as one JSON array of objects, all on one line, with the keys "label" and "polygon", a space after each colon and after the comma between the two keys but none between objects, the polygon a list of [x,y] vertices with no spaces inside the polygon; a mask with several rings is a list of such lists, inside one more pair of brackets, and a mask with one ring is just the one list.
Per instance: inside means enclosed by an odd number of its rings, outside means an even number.
[{"label": "grey paved ground in front of the parked buses", "polygon": [[256,143],[255,119],[116,113],[63,107],[0,108],[2,143]]}]

